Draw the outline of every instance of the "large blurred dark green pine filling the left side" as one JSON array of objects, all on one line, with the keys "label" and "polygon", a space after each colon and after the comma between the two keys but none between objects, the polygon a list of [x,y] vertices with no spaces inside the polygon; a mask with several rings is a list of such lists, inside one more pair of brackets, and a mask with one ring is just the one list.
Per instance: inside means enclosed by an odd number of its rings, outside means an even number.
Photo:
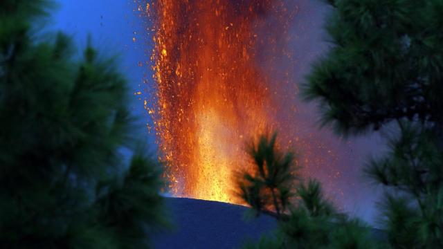
[{"label": "large blurred dark green pine filling the left side", "polygon": [[0,1],[0,248],[145,248],[159,163],[135,149],[111,59],[42,35],[52,1]]}]

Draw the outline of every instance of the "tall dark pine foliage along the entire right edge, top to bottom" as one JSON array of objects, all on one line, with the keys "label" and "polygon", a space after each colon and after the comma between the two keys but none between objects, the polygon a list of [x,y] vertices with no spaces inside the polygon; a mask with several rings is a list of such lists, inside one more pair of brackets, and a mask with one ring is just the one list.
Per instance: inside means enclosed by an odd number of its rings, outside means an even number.
[{"label": "tall dark pine foliage along the entire right edge, top to bottom", "polygon": [[397,124],[366,169],[388,187],[381,219],[394,248],[442,248],[443,1],[328,2],[332,46],[305,96],[342,135]]}]

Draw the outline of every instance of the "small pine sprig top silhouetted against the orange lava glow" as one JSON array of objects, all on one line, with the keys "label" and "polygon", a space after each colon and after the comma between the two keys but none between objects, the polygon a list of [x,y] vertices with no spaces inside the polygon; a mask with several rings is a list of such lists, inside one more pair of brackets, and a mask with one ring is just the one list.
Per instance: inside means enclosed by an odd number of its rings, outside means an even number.
[{"label": "small pine sprig top silhouetted against the orange lava glow", "polygon": [[282,154],[276,148],[277,133],[251,140],[248,154],[253,159],[253,172],[239,172],[239,197],[257,210],[284,218],[294,196],[297,165],[292,153]]}]

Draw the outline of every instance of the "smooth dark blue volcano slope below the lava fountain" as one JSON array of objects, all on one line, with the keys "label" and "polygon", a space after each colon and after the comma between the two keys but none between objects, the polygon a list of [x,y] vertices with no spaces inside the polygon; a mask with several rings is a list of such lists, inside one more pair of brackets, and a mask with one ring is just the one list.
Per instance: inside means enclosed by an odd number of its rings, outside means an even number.
[{"label": "smooth dark blue volcano slope below the lava fountain", "polygon": [[[152,236],[154,248],[240,248],[251,239],[277,228],[270,216],[246,219],[248,208],[241,205],[186,198],[166,198],[174,230]],[[386,239],[381,230],[372,229],[374,239]]]}]

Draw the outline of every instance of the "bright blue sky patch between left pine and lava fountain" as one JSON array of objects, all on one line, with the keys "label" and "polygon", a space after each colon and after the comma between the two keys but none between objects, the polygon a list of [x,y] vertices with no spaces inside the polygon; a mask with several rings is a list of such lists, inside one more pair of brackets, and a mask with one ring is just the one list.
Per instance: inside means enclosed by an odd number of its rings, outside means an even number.
[{"label": "bright blue sky patch between left pine and lava fountain", "polygon": [[[134,1],[129,0],[58,0],[59,8],[53,12],[51,28],[62,30],[75,38],[78,48],[84,48],[87,37],[91,35],[93,46],[104,55],[118,55],[120,71],[129,81],[131,92],[146,92],[149,84],[143,84],[143,78],[151,72],[146,65],[150,59],[150,46],[142,19]],[[134,42],[134,38],[136,41]],[[81,50],[79,50],[79,53]],[[152,83],[152,82],[150,82]],[[154,149],[154,136],[147,133],[146,123],[150,118],[143,109],[144,95],[134,95],[131,107],[139,117],[140,136],[145,136]]]}]

